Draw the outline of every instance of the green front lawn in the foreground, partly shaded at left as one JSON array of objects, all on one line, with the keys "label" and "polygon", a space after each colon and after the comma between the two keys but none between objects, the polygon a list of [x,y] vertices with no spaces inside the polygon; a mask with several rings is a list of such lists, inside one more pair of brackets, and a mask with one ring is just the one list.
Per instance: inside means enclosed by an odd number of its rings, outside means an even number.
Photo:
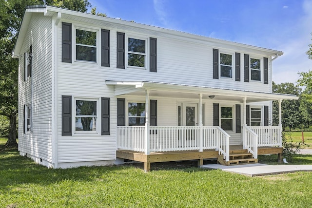
[{"label": "green front lawn in the foreground, partly shaded at left", "polygon": [[4,143],[0,139],[1,208],[312,205],[312,172],[251,178],[194,167],[162,169],[157,164],[149,173],[132,165],[48,169]]}]

